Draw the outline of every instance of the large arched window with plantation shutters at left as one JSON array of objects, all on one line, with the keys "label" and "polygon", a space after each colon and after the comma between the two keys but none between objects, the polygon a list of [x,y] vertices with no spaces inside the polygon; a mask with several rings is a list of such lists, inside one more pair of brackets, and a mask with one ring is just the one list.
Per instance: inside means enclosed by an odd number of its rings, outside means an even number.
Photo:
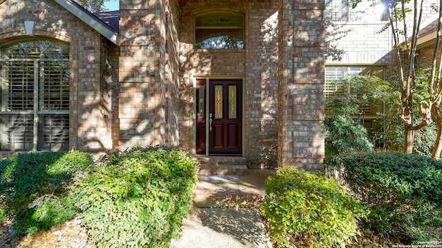
[{"label": "large arched window with plantation shutters at left", "polygon": [[0,149],[68,149],[68,44],[28,40],[5,45],[0,86]]}]

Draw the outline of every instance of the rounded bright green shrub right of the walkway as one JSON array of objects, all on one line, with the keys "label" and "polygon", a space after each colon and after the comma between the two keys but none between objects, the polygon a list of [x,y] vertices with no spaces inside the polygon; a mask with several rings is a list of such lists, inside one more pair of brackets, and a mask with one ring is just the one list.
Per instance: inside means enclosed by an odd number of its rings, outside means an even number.
[{"label": "rounded bright green shrub right of the walkway", "polygon": [[276,176],[267,178],[267,185],[261,211],[278,247],[287,247],[292,236],[329,247],[344,245],[358,234],[358,220],[365,216],[365,210],[334,179],[283,167]]}]

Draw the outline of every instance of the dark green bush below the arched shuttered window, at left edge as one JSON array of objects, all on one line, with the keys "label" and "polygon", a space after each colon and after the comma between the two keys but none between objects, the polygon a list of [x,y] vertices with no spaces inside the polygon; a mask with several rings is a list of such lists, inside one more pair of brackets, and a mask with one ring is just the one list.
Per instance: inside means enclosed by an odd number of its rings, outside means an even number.
[{"label": "dark green bush below the arched shuttered window, at left edge", "polygon": [[[30,152],[0,161],[2,213],[22,234],[35,234],[72,218],[64,196],[75,172],[91,165],[81,152]],[[3,215],[2,214],[2,215]]]}]

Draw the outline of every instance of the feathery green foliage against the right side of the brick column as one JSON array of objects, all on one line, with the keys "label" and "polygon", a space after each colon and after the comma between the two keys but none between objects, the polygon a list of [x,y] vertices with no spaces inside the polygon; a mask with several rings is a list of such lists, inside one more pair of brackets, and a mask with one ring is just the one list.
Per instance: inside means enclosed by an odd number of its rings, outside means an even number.
[{"label": "feathery green foliage against the right side of the brick column", "polygon": [[[325,167],[340,167],[340,156],[355,150],[371,151],[374,147],[368,132],[357,119],[364,107],[376,109],[392,98],[390,85],[376,76],[358,75],[336,81],[340,88],[325,99]],[[346,92],[346,93],[342,93]]]}]

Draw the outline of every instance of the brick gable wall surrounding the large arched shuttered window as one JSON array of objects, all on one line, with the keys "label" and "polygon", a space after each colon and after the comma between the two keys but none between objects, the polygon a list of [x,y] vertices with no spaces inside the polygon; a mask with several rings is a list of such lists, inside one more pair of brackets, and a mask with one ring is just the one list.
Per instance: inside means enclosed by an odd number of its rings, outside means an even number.
[{"label": "brick gable wall surrounding the large arched shuttered window", "polygon": [[[0,19],[0,45],[32,37],[69,43],[69,147],[88,151],[115,147],[115,133],[108,132],[115,104],[107,97],[117,81],[117,46],[52,0],[6,0],[0,4]],[[24,21],[35,21],[32,35],[26,35]],[[102,63],[106,60],[108,65]],[[108,71],[106,76],[103,70]]]}]

